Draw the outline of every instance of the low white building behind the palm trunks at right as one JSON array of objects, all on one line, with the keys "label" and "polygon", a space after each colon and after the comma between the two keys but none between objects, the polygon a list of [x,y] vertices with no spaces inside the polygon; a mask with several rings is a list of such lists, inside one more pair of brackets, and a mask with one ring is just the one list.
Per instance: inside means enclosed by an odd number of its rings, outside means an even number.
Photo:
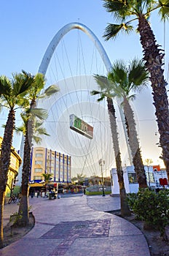
[{"label": "low white building behind the palm trunks at right", "polygon": [[[167,178],[166,170],[160,168],[160,165],[144,166],[146,171],[146,181],[147,185],[150,187],[161,187],[162,181]],[[138,181],[134,166],[123,167],[123,176],[125,181],[125,190],[127,193],[138,192]],[[113,168],[111,170],[111,194],[119,195],[119,183],[117,177],[117,170]]]}]

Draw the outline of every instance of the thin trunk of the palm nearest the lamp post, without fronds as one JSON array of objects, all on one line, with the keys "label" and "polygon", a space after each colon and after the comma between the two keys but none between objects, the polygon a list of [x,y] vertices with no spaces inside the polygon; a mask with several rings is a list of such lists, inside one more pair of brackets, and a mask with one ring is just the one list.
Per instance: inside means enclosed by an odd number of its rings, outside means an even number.
[{"label": "thin trunk of the palm nearest the lamp post, without fronds", "polygon": [[125,192],[125,182],[124,182],[124,178],[123,178],[121,154],[119,151],[119,141],[118,141],[115,109],[114,109],[114,105],[113,105],[113,100],[109,97],[107,97],[107,105],[108,105],[109,119],[110,119],[110,125],[111,125],[111,135],[112,135],[112,140],[113,140],[113,145],[114,145],[115,161],[116,161],[116,166],[117,166],[121,215],[122,215],[122,217],[125,217],[125,216],[130,216],[130,208],[127,204],[127,195]]}]

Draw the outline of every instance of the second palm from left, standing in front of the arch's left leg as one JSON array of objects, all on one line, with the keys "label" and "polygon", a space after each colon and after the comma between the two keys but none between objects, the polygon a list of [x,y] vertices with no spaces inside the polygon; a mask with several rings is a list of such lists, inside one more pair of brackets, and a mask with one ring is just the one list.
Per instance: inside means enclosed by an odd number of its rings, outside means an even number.
[{"label": "second palm from left, standing in front of the arch's left leg", "polygon": [[[31,74],[27,74],[31,77]],[[43,109],[36,108],[36,100],[42,97],[50,97],[50,95],[58,92],[57,86],[49,86],[44,93],[42,93],[42,89],[44,89],[45,79],[44,75],[38,73],[34,75],[34,84],[31,87],[28,95],[28,99],[30,100],[30,105],[28,108],[25,108],[25,141],[24,141],[24,149],[23,149],[23,170],[22,170],[22,183],[21,183],[21,193],[22,198],[20,201],[20,206],[18,210],[18,214],[20,215],[20,219],[17,221],[17,225],[25,226],[28,225],[29,217],[28,217],[28,178],[29,173],[31,172],[31,147],[32,140],[34,138],[35,132],[35,116],[40,120],[44,120],[47,118],[45,111]]]}]

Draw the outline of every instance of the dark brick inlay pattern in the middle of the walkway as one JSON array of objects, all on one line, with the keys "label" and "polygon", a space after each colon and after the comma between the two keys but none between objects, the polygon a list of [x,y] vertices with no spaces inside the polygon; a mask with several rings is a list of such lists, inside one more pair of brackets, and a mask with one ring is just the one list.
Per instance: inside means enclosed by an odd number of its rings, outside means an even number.
[{"label": "dark brick inlay pattern in the middle of the walkway", "polygon": [[76,238],[103,238],[109,236],[111,219],[60,222],[40,239],[62,238],[63,241],[49,256],[65,255]]}]

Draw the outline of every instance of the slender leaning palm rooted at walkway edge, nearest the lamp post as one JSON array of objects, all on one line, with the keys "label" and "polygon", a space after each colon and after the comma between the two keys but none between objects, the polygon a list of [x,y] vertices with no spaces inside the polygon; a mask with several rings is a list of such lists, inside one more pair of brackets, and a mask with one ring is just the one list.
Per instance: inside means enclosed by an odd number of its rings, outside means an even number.
[{"label": "slender leaning palm rooted at walkway edge, nearest the lamp post", "polygon": [[99,98],[98,101],[104,99],[105,97],[107,99],[107,106],[108,106],[109,120],[110,120],[110,127],[111,127],[111,136],[113,140],[115,161],[116,161],[116,167],[117,167],[117,176],[118,176],[118,182],[119,182],[121,214],[123,217],[130,216],[130,209],[127,204],[127,195],[125,192],[125,182],[123,178],[122,159],[119,151],[117,122],[116,122],[115,108],[114,108],[112,94],[111,94],[111,83],[109,83],[109,80],[106,77],[103,77],[100,75],[94,75],[94,78],[98,83],[98,85],[100,86],[101,91],[91,91],[91,94],[92,95],[101,94],[101,98]]}]

